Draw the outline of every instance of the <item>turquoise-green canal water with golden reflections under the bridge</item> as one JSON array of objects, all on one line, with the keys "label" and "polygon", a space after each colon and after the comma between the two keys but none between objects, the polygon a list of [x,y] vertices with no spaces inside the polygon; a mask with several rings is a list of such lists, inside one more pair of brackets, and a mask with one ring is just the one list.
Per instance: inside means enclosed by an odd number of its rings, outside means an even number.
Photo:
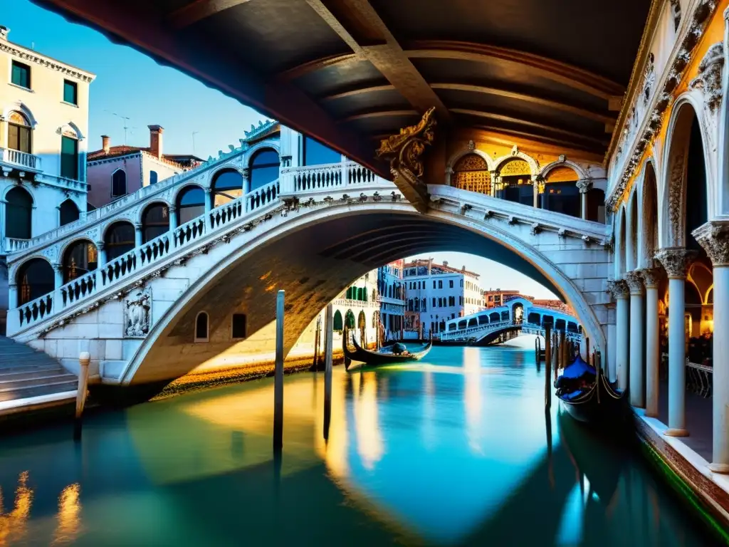
[{"label": "turquoise-green canal water with golden reflections under the bridge", "polygon": [[534,350],[286,377],[0,444],[0,546],[704,546],[642,460],[544,410]]}]

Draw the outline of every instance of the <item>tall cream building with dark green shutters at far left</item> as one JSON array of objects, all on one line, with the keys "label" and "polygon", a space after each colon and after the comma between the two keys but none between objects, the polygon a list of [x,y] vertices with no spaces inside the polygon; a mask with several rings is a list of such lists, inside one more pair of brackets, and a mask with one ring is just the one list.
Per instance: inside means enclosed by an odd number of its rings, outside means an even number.
[{"label": "tall cream building with dark green shutters at far left", "polygon": [[[10,42],[8,34],[0,26],[0,334],[8,309],[7,255],[85,215],[95,77]],[[21,291],[34,282],[35,266],[26,268]]]}]

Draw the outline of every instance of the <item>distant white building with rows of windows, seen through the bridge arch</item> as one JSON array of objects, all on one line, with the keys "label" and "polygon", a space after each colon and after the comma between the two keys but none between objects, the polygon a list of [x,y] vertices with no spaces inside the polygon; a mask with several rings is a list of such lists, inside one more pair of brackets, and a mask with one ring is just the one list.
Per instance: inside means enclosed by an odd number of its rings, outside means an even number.
[{"label": "distant white building with rows of windows, seen through the bridge arch", "polygon": [[428,338],[442,332],[449,319],[484,309],[478,277],[465,266],[459,270],[432,258],[405,263],[405,338]]}]

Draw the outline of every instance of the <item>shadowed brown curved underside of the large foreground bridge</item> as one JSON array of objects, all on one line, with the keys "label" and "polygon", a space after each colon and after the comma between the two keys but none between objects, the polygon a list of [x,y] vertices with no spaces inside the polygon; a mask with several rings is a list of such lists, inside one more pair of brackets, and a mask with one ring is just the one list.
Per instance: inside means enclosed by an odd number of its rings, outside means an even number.
[{"label": "shadowed brown curved underside of the large foreground bridge", "polygon": [[[286,291],[284,350],[353,279],[416,253],[459,251],[516,268],[555,294],[561,292],[531,263],[502,244],[470,230],[416,214],[359,214],[335,217],[246,252],[203,287],[191,287],[188,301],[157,335],[131,383],[176,379],[206,360],[270,351],[275,293]],[[209,341],[195,344],[195,318],[209,316]],[[249,337],[230,341],[230,317],[246,314]],[[228,357],[225,357],[228,356]]]}]

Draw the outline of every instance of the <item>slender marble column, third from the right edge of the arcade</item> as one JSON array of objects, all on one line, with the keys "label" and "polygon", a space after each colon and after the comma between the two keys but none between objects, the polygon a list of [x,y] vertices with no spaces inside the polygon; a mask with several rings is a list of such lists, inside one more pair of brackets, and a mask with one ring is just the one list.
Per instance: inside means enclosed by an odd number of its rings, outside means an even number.
[{"label": "slender marble column, third from the right edge of the arcade", "polygon": [[645,284],[645,415],[658,416],[658,365],[660,344],[658,340],[658,282],[659,268],[641,271]]}]

